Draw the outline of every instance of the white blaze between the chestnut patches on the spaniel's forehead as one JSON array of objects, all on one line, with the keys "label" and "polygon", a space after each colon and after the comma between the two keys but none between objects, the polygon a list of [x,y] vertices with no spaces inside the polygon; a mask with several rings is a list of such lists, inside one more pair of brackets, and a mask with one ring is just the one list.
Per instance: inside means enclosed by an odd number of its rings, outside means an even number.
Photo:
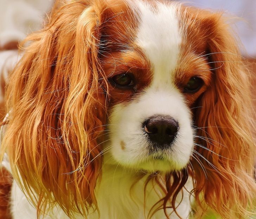
[{"label": "white blaze between the chestnut patches on the spaniel's forehead", "polygon": [[146,2],[137,2],[140,25],[137,44],[153,64],[153,85],[171,83],[171,77],[177,65],[181,34],[177,12],[179,4],[157,3],[156,8]]}]

